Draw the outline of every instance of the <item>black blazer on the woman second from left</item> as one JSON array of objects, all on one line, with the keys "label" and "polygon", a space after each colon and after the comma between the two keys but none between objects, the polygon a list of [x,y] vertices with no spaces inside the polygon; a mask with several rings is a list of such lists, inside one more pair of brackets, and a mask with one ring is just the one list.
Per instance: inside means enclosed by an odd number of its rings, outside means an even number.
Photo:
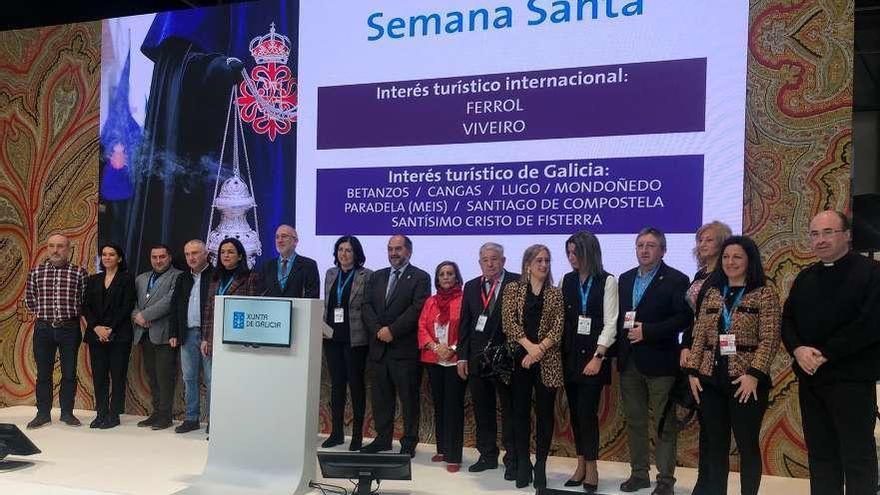
[{"label": "black blazer on the woman second from left", "polygon": [[96,273],[86,281],[86,296],[83,300],[83,316],[86,317],[86,333],[83,340],[88,343],[103,343],[95,333],[96,326],[113,329],[110,334],[114,342],[131,342],[131,312],[137,304],[137,291],[134,277],[125,272],[117,272],[104,293],[105,273]]}]

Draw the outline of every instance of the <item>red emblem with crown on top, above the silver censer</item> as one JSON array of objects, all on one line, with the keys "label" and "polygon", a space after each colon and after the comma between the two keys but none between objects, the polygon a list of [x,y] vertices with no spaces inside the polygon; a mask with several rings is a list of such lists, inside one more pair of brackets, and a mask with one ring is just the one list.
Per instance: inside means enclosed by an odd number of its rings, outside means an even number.
[{"label": "red emblem with crown on top, above the silver censer", "polygon": [[249,49],[257,65],[250,71],[250,81],[245,78],[239,84],[238,112],[256,133],[275,141],[296,122],[297,84],[287,66],[290,38],[276,33],[273,22],[268,34],[251,40]]}]

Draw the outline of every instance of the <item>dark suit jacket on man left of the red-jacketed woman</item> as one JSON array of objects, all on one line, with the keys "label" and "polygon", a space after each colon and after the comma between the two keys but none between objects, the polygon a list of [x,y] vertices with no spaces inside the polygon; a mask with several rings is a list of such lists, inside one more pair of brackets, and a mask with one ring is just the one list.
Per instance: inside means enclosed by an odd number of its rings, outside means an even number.
[{"label": "dark suit jacket on man left of the red-jacketed woman", "polygon": [[[387,352],[393,359],[419,358],[419,315],[425,300],[431,295],[431,277],[419,268],[409,265],[400,274],[400,280],[385,304],[385,289],[391,268],[373,272],[367,282],[367,297],[363,306],[364,325],[370,345],[370,359],[378,361]],[[388,326],[394,339],[386,344],[376,337],[379,329]]]}]

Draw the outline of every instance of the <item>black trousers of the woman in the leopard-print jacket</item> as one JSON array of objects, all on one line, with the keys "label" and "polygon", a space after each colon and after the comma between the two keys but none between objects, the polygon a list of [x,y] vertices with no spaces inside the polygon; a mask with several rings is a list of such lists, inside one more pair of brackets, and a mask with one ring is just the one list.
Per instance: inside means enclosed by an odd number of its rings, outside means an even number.
[{"label": "black trousers of the woman in the leopard-print jacket", "polygon": [[538,461],[547,459],[550,442],[553,440],[553,409],[556,403],[556,389],[541,383],[540,365],[529,369],[516,366],[510,383],[513,395],[514,443],[517,463],[530,464],[529,444],[532,435],[532,390],[535,391],[535,457]]}]

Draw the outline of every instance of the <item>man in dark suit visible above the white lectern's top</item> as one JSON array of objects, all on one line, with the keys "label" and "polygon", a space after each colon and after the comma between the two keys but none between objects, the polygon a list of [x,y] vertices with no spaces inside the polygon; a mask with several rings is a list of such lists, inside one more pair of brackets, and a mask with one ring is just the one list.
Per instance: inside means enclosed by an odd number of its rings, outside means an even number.
[{"label": "man in dark suit visible above the white lectern's top", "polygon": [[272,297],[320,296],[318,264],[315,260],[296,253],[299,236],[290,225],[280,225],[275,231],[275,249],[278,257],[264,263],[260,279],[266,284],[266,294]]}]

